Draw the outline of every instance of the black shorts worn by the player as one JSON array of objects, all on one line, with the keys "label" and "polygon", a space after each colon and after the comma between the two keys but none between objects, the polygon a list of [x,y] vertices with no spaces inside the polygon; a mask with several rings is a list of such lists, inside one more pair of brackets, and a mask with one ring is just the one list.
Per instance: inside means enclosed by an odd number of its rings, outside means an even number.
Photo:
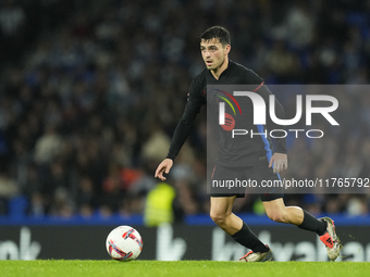
[{"label": "black shorts worn by the player", "polygon": [[247,167],[215,165],[208,186],[211,197],[244,198],[245,193],[256,193],[262,201],[284,197],[280,175],[273,173],[267,160]]}]

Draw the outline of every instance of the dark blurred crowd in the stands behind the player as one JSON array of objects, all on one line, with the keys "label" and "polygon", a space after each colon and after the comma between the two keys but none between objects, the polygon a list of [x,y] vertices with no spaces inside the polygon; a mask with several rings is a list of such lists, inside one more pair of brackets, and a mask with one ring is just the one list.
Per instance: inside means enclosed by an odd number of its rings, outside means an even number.
[{"label": "dark blurred crowd in the stands behind the player", "polygon": [[[2,1],[0,214],[20,196],[35,217],[143,214],[192,78],[203,68],[205,29],[226,27],[230,58],[267,84],[365,85],[369,15],[365,0]],[[369,177],[370,97],[345,92],[338,101],[341,131],[289,140],[285,177]],[[177,219],[209,211],[205,126],[202,111],[169,176]],[[370,207],[369,194],[286,202],[314,214]],[[235,212],[259,206],[247,196]]]}]

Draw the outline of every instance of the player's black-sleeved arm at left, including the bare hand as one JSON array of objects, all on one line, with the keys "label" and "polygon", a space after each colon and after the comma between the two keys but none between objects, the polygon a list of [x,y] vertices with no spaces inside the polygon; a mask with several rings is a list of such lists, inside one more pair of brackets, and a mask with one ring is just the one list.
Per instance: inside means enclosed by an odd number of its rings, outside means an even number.
[{"label": "player's black-sleeved arm at left, including the bare hand", "polygon": [[173,134],[169,153],[166,158],[158,165],[155,177],[165,180],[163,174],[168,174],[170,172],[173,161],[177,156],[181,148],[185,143],[185,140],[189,136],[194,126],[195,117],[203,104],[205,100],[199,96],[199,90],[196,89],[195,81],[193,81],[185,111]]}]

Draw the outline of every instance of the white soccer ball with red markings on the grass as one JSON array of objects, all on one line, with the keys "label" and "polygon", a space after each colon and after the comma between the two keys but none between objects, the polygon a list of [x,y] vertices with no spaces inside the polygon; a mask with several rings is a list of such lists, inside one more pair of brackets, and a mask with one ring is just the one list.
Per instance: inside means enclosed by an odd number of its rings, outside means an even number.
[{"label": "white soccer ball with red markings on the grass", "polygon": [[116,261],[135,260],[143,250],[140,234],[130,226],[119,226],[107,237],[108,254]]}]

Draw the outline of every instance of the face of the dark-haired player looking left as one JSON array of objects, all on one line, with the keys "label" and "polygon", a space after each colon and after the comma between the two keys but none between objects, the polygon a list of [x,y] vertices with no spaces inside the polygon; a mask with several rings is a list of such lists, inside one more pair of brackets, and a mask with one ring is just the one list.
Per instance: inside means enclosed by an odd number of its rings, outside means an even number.
[{"label": "face of the dark-haired player looking left", "polygon": [[218,39],[201,40],[200,52],[207,68],[217,71],[221,67],[230,52],[230,45],[223,47]]}]

